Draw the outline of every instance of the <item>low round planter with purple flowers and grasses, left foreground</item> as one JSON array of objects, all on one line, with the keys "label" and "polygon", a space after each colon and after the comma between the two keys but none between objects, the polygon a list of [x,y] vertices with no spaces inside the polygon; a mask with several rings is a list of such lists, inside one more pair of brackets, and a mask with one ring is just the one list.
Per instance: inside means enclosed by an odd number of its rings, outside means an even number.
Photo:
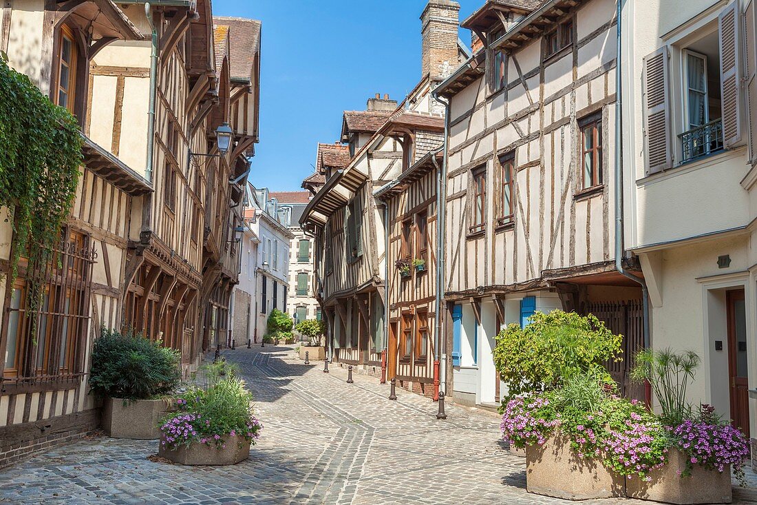
[{"label": "low round planter with purple flowers and grasses, left foreground", "polygon": [[263,425],[253,415],[252,394],[226,369],[208,365],[207,387],[190,387],[179,396],[177,412],[160,425],[158,456],[182,465],[235,465],[250,455]]}]

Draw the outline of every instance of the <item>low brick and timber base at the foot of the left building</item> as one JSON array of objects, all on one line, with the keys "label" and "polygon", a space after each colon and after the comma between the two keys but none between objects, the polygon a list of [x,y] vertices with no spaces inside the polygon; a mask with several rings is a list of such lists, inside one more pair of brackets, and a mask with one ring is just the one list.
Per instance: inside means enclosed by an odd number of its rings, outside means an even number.
[{"label": "low brick and timber base at the foot of the left building", "polygon": [[92,434],[100,426],[98,409],[76,412],[44,421],[26,422],[2,428],[0,468],[52,447]]}]

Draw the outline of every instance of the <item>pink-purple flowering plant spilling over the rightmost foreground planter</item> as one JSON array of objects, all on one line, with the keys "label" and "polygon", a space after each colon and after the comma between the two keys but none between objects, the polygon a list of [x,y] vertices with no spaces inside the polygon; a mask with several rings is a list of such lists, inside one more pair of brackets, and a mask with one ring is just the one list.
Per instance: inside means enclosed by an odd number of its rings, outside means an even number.
[{"label": "pink-purple flowering plant spilling over the rightmost foreground planter", "polygon": [[740,485],[746,485],[743,461],[749,457],[749,441],[740,430],[718,419],[714,407],[702,405],[695,419],[687,419],[668,430],[674,447],[687,456],[682,476],[691,475],[694,465],[718,472],[731,465]]}]

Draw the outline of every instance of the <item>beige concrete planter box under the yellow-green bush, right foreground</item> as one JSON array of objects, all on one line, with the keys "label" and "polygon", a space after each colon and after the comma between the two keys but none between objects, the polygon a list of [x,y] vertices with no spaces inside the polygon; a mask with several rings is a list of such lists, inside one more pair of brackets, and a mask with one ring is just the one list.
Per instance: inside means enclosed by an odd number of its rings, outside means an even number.
[{"label": "beige concrete planter box under the yellow-green bush, right foreground", "polygon": [[544,445],[525,448],[526,488],[529,493],[593,500],[625,497],[625,478],[609,471],[599,460],[579,458],[569,438],[553,434]]}]

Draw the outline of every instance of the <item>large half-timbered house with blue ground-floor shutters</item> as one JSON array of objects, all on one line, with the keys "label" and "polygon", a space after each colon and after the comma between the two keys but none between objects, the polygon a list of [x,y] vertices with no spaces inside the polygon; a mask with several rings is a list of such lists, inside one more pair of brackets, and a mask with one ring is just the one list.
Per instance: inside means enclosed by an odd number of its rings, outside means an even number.
[{"label": "large half-timbered house with blue ground-floor shutters", "polygon": [[[489,0],[462,24],[481,49],[437,89],[450,102],[444,296],[457,402],[498,404],[494,337],[537,310],[593,312],[626,336],[626,356],[643,343],[640,284],[615,265],[615,9]],[[621,265],[640,277],[635,259]],[[626,394],[643,394],[627,372],[612,369]]]}]

